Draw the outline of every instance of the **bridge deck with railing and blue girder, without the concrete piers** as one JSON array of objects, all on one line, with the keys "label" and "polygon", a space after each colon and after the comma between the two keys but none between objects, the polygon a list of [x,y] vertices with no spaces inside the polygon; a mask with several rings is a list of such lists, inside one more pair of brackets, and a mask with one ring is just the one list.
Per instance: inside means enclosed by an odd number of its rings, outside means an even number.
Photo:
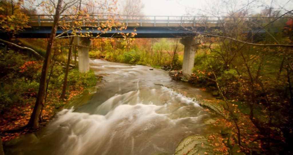
[{"label": "bridge deck with railing and blue girder, without the concrete piers", "polygon": [[[73,16],[62,15],[60,22],[68,23],[72,21],[79,21],[82,25],[97,25],[100,26],[109,20],[109,15],[79,15],[84,16],[80,19],[74,19]],[[93,29],[88,26],[88,30],[83,28],[82,33],[91,31],[93,37],[122,37],[117,33],[131,33],[135,32],[137,35],[135,38],[178,38],[194,35],[194,31],[197,32],[209,32],[215,29],[220,29],[222,23],[229,23],[235,20],[236,17],[198,17],[198,16],[124,16],[119,18],[113,16],[113,19],[122,25],[127,25],[127,30],[115,30],[107,33],[102,33],[96,28]],[[272,20],[271,18],[261,18],[263,22]],[[259,17],[246,17],[244,21],[260,20]],[[25,29],[23,32],[16,35],[20,38],[48,38],[51,33],[53,24],[52,15],[30,15],[29,25],[31,28]],[[255,29],[253,31],[258,31]],[[64,32],[61,28],[57,30],[57,35]],[[69,31],[71,33],[71,31]],[[248,30],[247,33],[251,33]],[[263,33],[260,31],[259,33]],[[0,32],[0,35],[1,34]]]}]

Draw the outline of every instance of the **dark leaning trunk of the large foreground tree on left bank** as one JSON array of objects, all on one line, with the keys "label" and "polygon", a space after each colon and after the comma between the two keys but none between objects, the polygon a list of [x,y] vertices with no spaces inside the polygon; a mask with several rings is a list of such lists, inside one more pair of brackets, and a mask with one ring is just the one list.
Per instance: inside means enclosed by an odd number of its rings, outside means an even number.
[{"label": "dark leaning trunk of the large foreground tree on left bank", "polygon": [[62,6],[62,0],[58,0],[57,8],[56,8],[55,16],[54,16],[54,23],[53,23],[51,34],[50,34],[50,40],[47,45],[45,60],[44,60],[43,67],[42,67],[38,96],[37,96],[37,100],[36,100],[36,103],[34,106],[33,113],[30,116],[30,121],[28,122],[28,126],[31,126],[31,127],[38,127],[39,126],[39,115],[41,113],[41,109],[42,109],[43,102],[44,102],[48,67],[50,64],[50,57],[51,57],[51,50],[52,50],[54,39],[55,39],[56,32],[57,32],[58,21],[60,19],[61,6]]}]

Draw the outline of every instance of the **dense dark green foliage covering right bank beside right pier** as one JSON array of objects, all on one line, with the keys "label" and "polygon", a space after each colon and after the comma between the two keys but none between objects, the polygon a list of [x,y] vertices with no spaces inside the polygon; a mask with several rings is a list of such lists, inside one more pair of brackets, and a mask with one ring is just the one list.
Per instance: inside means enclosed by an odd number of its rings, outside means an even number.
[{"label": "dense dark green foliage covering right bank beside right pier", "polygon": [[[258,25],[269,22],[263,23],[263,18],[252,19]],[[292,19],[287,22],[284,18],[277,20],[273,23],[274,26],[271,24],[266,27],[270,34],[256,35],[253,42],[292,45],[292,32],[289,32],[292,31],[292,23]],[[241,26],[259,28],[249,24],[251,23],[240,21],[224,25],[226,36],[247,40],[251,34],[241,33],[245,31]],[[282,32],[282,29],[285,30]],[[276,31],[279,33],[275,33]],[[287,137],[293,135],[292,49],[243,45],[226,38],[207,38],[207,41],[212,43],[211,48],[195,57],[193,72],[196,78],[193,82],[217,91],[219,86],[224,97],[235,101],[234,104],[237,103],[261,135],[267,137],[260,140],[262,149],[270,150],[266,153],[287,154],[286,149],[290,149],[289,145],[292,145],[292,140]],[[228,107],[226,109],[233,115],[237,114],[237,111],[229,110]],[[242,120],[241,117],[234,116],[237,120]],[[242,140],[241,143],[244,144]],[[268,143],[271,145],[267,145]],[[253,146],[251,143],[244,145],[249,145],[248,148]]]}]

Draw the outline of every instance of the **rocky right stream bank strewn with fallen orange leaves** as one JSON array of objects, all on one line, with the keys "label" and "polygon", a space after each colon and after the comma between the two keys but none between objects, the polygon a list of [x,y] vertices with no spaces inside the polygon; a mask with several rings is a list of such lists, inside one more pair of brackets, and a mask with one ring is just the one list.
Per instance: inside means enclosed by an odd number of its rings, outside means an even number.
[{"label": "rocky right stream bank strewn with fallen orange leaves", "polygon": [[[169,76],[171,76],[171,79],[175,81],[183,81],[189,83],[190,85],[195,85],[195,77],[186,78],[185,76],[183,76],[182,71],[169,71]],[[242,118],[237,122],[241,128],[241,138],[243,138],[241,140],[242,146],[239,147],[239,145],[237,144],[237,130],[233,121],[231,120],[229,112],[226,109],[226,103],[223,101],[223,98],[219,96],[218,91],[215,91],[215,88],[213,86],[207,86],[207,88],[199,89],[209,92],[209,97],[195,93],[189,93],[189,91],[185,89],[174,89],[174,91],[184,94],[189,98],[192,98],[194,101],[197,101],[199,105],[201,105],[203,108],[207,108],[208,111],[221,115],[222,119],[211,119],[208,121],[213,122],[214,126],[217,126],[217,128],[222,128],[222,130],[219,130],[210,135],[206,135],[204,137],[199,135],[186,137],[178,145],[175,154],[261,154],[262,150],[259,149],[261,146],[259,141],[255,142],[254,146],[248,145],[248,142],[251,142],[250,139],[252,137],[257,138],[261,136],[259,131],[250,121],[250,119],[243,114],[243,107],[241,106],[241,102],[237,102],[234,100],[227,102],[230,107],[234,108],[234,115]],[[213,141],[213,138],[215,137],[218,140],[217,142]],[[205,144],[204,146],[206,147],[202,147],[202,144]]]}]

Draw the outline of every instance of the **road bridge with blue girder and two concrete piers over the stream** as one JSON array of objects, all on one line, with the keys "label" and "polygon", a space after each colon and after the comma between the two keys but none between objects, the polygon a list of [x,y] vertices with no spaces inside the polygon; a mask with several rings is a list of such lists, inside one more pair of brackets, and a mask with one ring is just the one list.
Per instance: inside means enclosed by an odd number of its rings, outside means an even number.
[{"label": "road bridge with blue girder and two concrete piers over the stream", "polygon": [[[31,28],[25,29],[23,32],[16,35],[20,38],[48,38],[51,33],[53,24],[52,15],[29,15]],[[77,19],[76,19],[77,18]],[[194,67],[194,57],[197,51],[197,46],[200,44],[200,39],[195,37],[195,32],[211,32],[216,29],[221,29],[222,24],[234,22],[235,18],[239,17],[208,17],[208,16],[121,16],[121,15],[62,15],[60,18],[60,25],[62,23],[79,22],[82,26],[82,30],[79,33],[87,33],[91,31],[92,37],[111,37],[121,38],[118,33],[137,33],[135,38],[183,38],[180,43],[184,45],[183,56],[183,73],[186,76],[190,76]],[[107,33],[103,33],[105,30],[98,30],[92,28],[91,25],[103,26],[109,20],[114,19],[122,25],[127,26],[126,30],[116,30],[115,27]],[[240,18],[239,18],[240,19]],[[241,17],[243,21],[263,21],[268,22],[273,18],[260,18],[260,17]],[[64,32],[64,29],[58,28],[57,35]],[[68,31],[70,34],[72,30]],[[248,30],[246,33],[264,33],[263,30],[255,29]],[[1,32],[0,32],[1,34]],[[64,34],[63,37],[67,35]],[[75,44],[78,47],[79,57],[79,71],[87,72],[89,70],[89,46],[91,40],[84,37],[75,37]]]}]

